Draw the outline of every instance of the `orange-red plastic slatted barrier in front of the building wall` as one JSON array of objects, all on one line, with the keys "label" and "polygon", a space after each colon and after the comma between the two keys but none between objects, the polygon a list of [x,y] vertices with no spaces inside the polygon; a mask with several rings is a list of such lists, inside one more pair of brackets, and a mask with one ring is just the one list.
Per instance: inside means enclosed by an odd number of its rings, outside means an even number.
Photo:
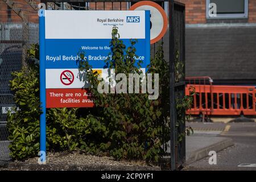
[{"label": "orange-red plastic slatted barrier in front of the building wall", "polygon": [[192,115],[256,115],[254,86],[212,85],[209,77],[186,78],[185,94],[195,89],[193,104],[187,114]]}]

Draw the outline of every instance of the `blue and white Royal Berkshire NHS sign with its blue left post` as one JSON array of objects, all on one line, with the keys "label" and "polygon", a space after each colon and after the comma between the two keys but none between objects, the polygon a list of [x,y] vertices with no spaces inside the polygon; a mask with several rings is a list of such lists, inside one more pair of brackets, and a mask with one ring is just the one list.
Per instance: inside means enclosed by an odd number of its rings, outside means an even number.
[{"label": "blue and white Royal Berkshire NHS sign with its blue left post", "polygon": [[39,17],[40,35],[40,151],[46,152],[46,108],[93,107],[89,90],[79,74],[78,52],[102,78],[109,76],[112,28],[118,27],[126,47],[135,48],[142,71],[150,64],[150,11],[55,11]]}]

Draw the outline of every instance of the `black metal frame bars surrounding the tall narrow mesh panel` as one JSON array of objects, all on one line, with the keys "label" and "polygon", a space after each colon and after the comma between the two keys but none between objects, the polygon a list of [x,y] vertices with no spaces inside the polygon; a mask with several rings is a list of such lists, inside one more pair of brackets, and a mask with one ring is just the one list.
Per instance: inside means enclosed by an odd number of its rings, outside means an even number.
[{"label": "black metal frame bars surrounding the tall narrow mesh panel", "polygon": [[[171,169],[179,168],[185,162],[185,138],[178,143],[177,135],[185,132],[185,113],[183,114],[183,125],[176,128],[177,114],[176,114],[176,98],[182,99],[185,96],[185,66],[183,68],[183,78],[179,82],[175,82],[175,51],[176,49],[181,52],[179,59],[184,61],[185,65],[185,6],[182,3],[170,1],[169,3],[169,15],[172,15],[169,19],[169,29],[170,34],[170,125],[171,125]],[[183,19],[177,21],[177,11],[183,14]],[[182,20],[182,22],[180,22]],[[174,25],[174,26],[172,26]],[[175,31],[177,26],[181,26],[181,35],[179,40],[181,40],[181,46],[179,48],[176,45],[176,38],[179,36],[180,32]],[[179,29],[178,29],[179,30]],[[185,111],[184,111],[185,112]]]}]

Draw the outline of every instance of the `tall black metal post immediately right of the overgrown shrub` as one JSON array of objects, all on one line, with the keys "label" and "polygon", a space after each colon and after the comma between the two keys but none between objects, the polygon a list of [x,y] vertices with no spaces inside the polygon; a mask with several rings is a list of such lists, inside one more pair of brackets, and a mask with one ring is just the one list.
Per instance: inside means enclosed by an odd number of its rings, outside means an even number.
[{"label": "tall black metal post immediately right of the overgrown shrub", "polygon": [[171,129],[171,170],[176,169],[175,165],[175,94],[174,94],[174,59],[175,59],[175,40],[174,40],[174,0],[169,1],[169,71],[170,71],[170,129]]}]

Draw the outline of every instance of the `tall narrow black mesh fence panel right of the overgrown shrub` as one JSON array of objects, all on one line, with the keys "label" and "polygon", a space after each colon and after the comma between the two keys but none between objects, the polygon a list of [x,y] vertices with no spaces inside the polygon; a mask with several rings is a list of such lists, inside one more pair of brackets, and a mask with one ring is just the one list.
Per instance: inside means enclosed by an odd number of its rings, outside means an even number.
[{"label": "tall narrow black mesh fence panel right of the overgrown shrub", "polygon": [[[180,3],[174,3],[172,16],[172,34],[171,44],[171,69],[174,76],[171,77],[171,115],[172,130],[174,135],[171,137],[172,146],[175,148],[172,152],[172,169],[179,168],[185,162],[185,137],[180,141],[179,138],[185,132],[185,110],[177,110],[176,105],[182,101],[185,96],[185,7]],[[171,74],[170,73],[170,74]],[[172,96],[173,94],[173,96]],[[174,124],[177,127],[174,127]],[[174,162],[175,161],[175,162]],[[175,167],[174,167],[175,163]]]}]

